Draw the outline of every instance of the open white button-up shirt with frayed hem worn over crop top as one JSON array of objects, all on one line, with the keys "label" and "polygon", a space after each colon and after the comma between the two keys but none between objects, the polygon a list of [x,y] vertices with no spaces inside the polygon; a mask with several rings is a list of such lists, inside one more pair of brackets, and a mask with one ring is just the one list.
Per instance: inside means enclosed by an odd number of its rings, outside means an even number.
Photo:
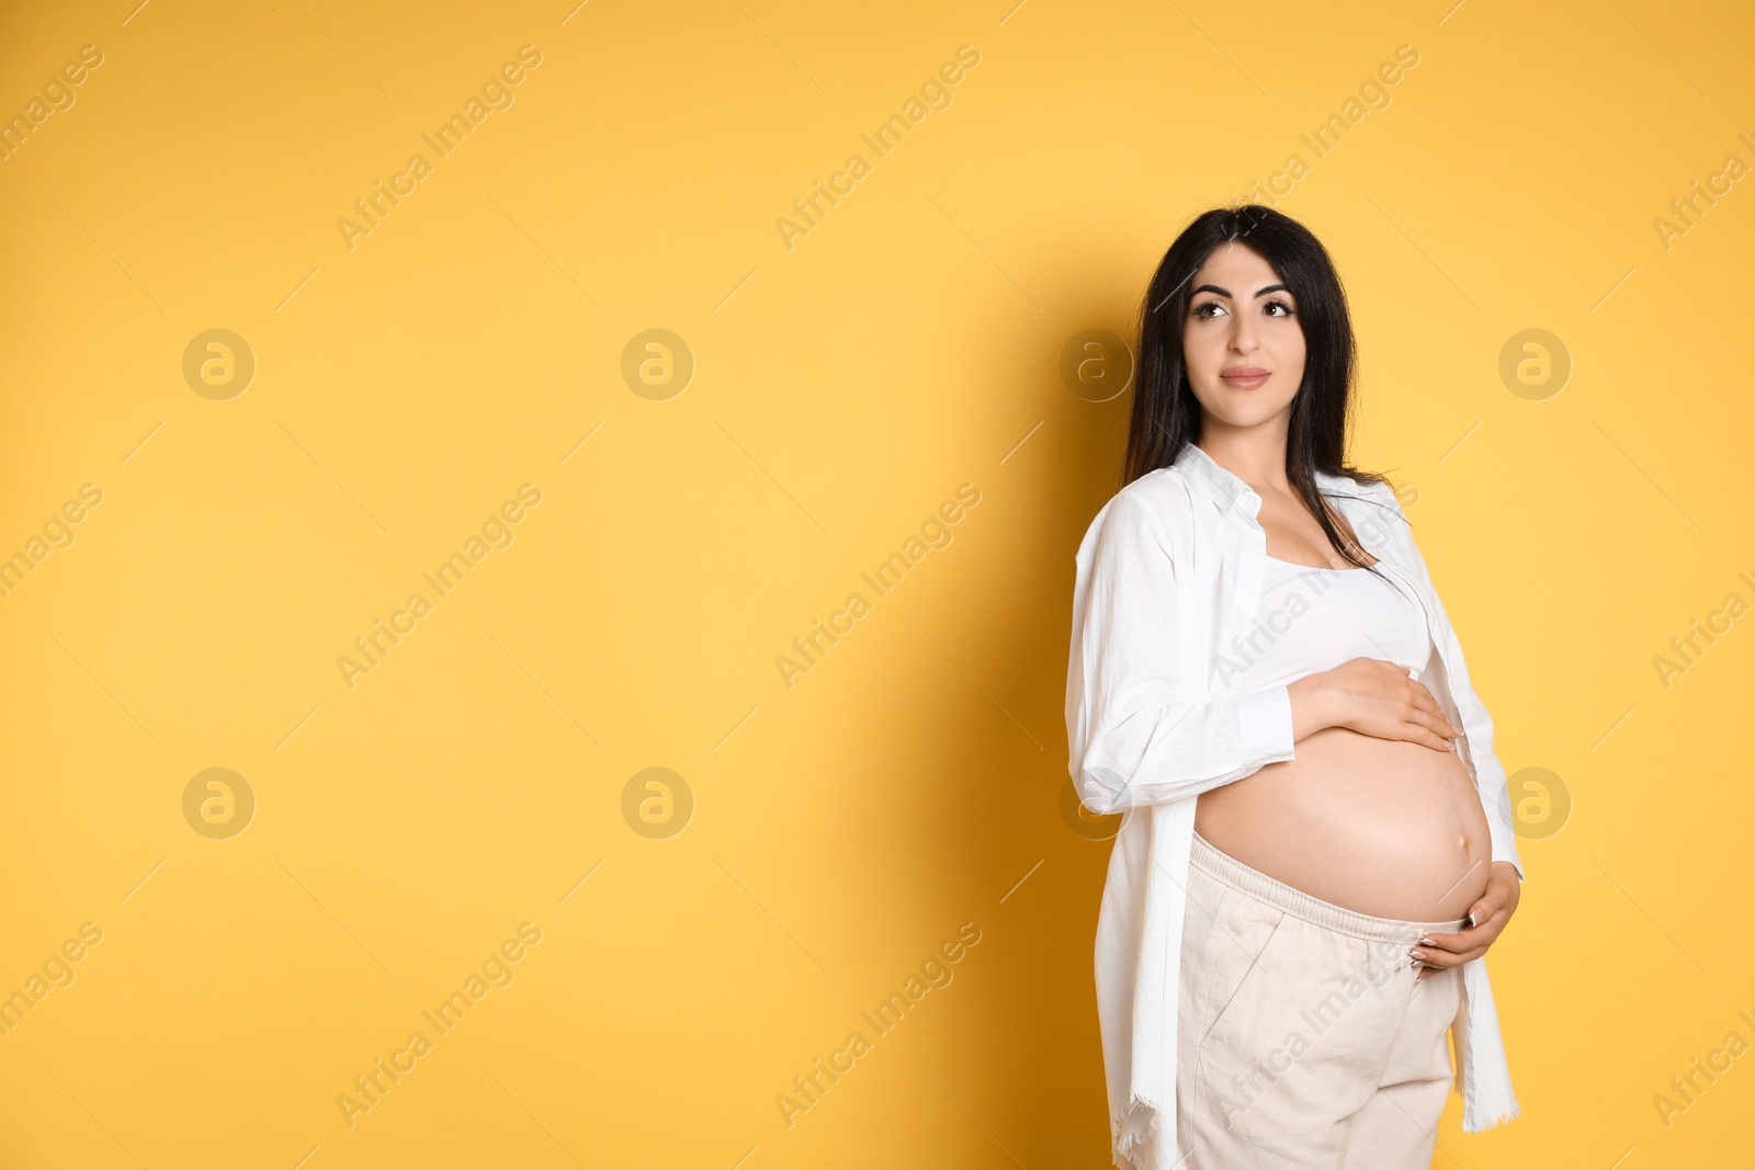
[{"label": "open white button-up shirt with frayed hem worn over crop top", "polygon": [[[1464,730],[1458,754],[1481,795],[1494,861],[1523,875],[1494,723],[1395,493],[1318,472],[1365,551],[1425,610],[1434,654],[1420,681]],[[1218,661],[1246,637],[1262,596],[1262,498],[1188,444],[1092,521],[1078,551],[1067,663],[1067,763],[1092,812],[1127,812],[1097,919],[1097,1016],[1114,1165],[1171,1170],[1176,1149],[1176,1007],[1195,798],[1292,760],[1292,698],[1274,686],[1227,698]],[[1451,1026],[1462,1128],[1518,1116],[1486,960],[1462,967]]]}]

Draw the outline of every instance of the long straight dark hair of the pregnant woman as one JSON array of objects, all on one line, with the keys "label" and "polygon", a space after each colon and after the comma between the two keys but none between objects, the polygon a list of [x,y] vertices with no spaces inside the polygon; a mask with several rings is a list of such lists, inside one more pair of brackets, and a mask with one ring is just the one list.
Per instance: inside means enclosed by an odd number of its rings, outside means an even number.
[{"label": "long straight dark hair of the pregnant woman", "polygon": [[1183,321],[1193,300],[1188,286],[1207,256],[1232,240],[1272,265],[1297,300],[1299,328],[1304,330],[1304,381],[1292,398],[1286,481],[1322,524],[1329,544],[1364,568],[1360,551],[1341,535],[1316,484],[1318,470],[1360,484],[1388,484],[1383,475],[1346,465],[1355,375],[1346,293],[1341,274],[1311,230],[1271,207],[1243,203],[1206,210],[1164,253],[1139,309],[1139,375],[1121,484],[1169,467],[1186,444],[1200,439],[1200,402],[1183,363]]}]

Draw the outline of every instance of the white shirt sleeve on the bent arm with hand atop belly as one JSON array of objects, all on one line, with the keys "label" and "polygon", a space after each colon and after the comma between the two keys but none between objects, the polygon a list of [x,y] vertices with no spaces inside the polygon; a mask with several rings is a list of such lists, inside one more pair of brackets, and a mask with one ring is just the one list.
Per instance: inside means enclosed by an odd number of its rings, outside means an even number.
[{"label": "white shirt sleeve on the bent arm with hand atop belly", "polygon": [[1123,489],[1078,553],[1067,768],[1079,800],[1099,816],[1197,796],[1293,758],[1285,686],[1236,700],[1176,698],[1206,691],[1174,672],[1185,660],[1179,640],[1200,637],[1195,628],[1213,621],[1214,598],[1178,581],[1160,509]]}]

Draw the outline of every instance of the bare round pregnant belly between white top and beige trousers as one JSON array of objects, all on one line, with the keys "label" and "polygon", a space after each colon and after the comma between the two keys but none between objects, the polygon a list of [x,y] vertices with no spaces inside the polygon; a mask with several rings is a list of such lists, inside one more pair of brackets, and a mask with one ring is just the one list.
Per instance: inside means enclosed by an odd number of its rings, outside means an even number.
[{"label": "bare round pregnant belly between white top and beige trousers", "polygon": [[1200,793],[1195,831],[1244,865],[1336,905],[1458,919],[1486,889],[1492,838],[1462,756],[1350,728]]}]

